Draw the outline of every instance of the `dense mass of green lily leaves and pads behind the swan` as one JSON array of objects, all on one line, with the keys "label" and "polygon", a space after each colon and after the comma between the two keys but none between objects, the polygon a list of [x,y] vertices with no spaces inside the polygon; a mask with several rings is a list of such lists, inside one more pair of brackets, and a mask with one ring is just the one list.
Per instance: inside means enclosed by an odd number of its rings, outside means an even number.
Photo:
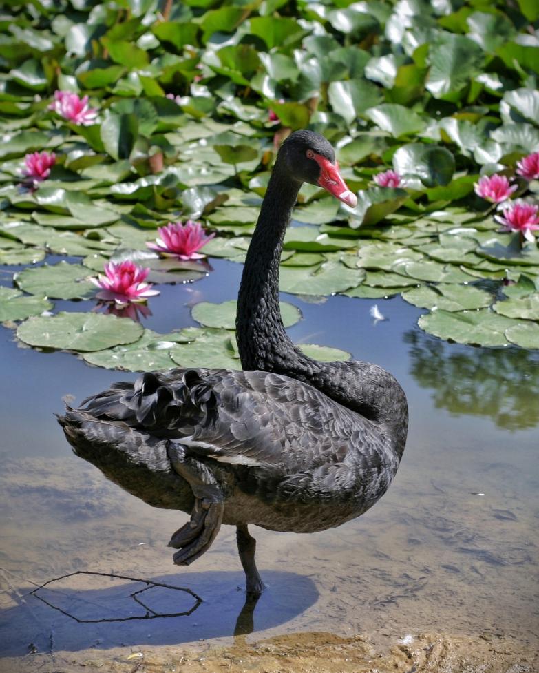
[{"label": "dense mass of green lily leaves and pads behind the swan", "polygon": [[[494,207],[474,194],[480,175],[497,172],[516,180],[513,198],[536,203],[539,184],[515,169],[539,150],[538,18],[530,0],[8,0],[0,264],[46,253],[83,260],[18,273],[19,291],[0,294],[1,319],[50,309],[49,298],[93,296],[87,278],[110,258],[140,259],[152,282],[202,278],[193,262],[140,256],[157,227],[180,218],[218,231],[209,256],[241,262],[275,146],[287,129],[310,127],[337,147],[359,203],[352,210],[304,186],[283,291],[403,293],[428,309],[420,327],[441,338],[539,348],[537,242],[522,247],[517,234],[500,233]],[[96,121],[50,110],[55,90],[87,94]],[[50,176],[21,187],[25,154],[43,149],[56,153]],[[404,185],[374,185],[390,168]],[[67,334],[63,315],[28,318],[19,338],[54,346],[37,332],[59,320],[47,333]],[[207,364],[211,346],[229,349],[220,362],[237,366],[224,327],[200,328],[168,351],[155,344],[172,344],[171,335],[132,336],[138,363],[140,353],[165,351],[155,366]],[[124,366],[103,355],[126,339],[98,340],[85,359]],[[202,360],[187,355],[187,341]],[[125,368],[138,369],[123,353]]]}]

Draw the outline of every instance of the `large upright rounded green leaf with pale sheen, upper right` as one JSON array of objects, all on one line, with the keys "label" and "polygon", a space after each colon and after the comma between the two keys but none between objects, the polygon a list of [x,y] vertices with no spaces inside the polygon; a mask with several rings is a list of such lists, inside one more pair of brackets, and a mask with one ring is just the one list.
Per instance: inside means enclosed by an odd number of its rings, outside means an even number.
[{"label": "large upright rounded green leaf with pale sheen, upper right", "polygon": [[469,81],[480,73],[485,54],[467,37],[443,33],[430,45],[429,61],[427,90],[436,99],[457,101]]}]

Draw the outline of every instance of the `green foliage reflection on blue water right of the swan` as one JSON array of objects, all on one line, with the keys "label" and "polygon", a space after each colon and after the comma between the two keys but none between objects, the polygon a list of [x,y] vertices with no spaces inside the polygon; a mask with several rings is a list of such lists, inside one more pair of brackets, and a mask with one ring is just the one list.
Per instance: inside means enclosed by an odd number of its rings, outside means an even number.
[{"label": "green foliage reflection on blue water right of the swan", "polygon": [[448,344],[419,330],[405,333],[411,373],[432,389],[436,408],[487,416],[500,428],[539,424],[539,353],[517,347],[471,348]]}]

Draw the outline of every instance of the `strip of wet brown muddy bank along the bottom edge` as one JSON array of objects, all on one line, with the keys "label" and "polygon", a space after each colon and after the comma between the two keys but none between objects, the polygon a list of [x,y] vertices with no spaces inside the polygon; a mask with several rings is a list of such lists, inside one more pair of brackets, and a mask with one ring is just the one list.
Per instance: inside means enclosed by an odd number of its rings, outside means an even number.
[{"label": "strip of wet brown muddy bank along the bottom edge", "polygon": [[[412,642],[410,640],[412,639]],[[249,639],[251,640],[251,639]],[[4,659],[1,673],[534,673],[537,650],[491,634],[408,636],[373,645],[367,636],[297,633],[233,645],[30,654]]]}]

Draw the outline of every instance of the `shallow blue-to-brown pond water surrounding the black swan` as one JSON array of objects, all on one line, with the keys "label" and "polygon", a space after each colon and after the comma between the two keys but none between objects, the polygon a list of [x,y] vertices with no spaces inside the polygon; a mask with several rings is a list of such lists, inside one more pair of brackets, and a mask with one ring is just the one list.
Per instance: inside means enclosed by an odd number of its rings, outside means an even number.
[{"label": "shallow blue-to-brown pond water surrounding the black swan", "polygon": [[[212,265],[198,283],[160,287],[145,326],[165,332],[195,324],[188,304],[235,298],[242,267]],[[251,527],[268,584],[255,606],[244,605],[233,528],[224,526],[193,566],[176,568],[166,543],[187,515],[124,493],[65,442],[54,418],[64,395],[80,402],[136,374],[21,348],[2,329],[0,670],[14,670],[14,658],[17,670],[39,670],[58,652],[58,670],[71,670],[67,659],[89,661],[90,650],[106,660],[115,648],[168,652],[250,632],[250,639],[286,635],[292,643],[300,632],[393,643],[433,632],[536,648],[538,353],[430,338],[416,327],[419,309],[400,298],[284,298],[303,313],[289,330],[293,340],[346,349],[394,373],[408,395],[410,432],[394,484],[363,517],[313,535]],[[370,318],[374,303],[387,320]],[[81,305],[56,302],[63,310]],[[88,574],[38,592],[75,621],[29,593],[78,571],[185,587],[203,602],[151,586],[141,605],[130,594],[147,584]],[[171,616],[120,621],[144,617],[147,608]]]}]

